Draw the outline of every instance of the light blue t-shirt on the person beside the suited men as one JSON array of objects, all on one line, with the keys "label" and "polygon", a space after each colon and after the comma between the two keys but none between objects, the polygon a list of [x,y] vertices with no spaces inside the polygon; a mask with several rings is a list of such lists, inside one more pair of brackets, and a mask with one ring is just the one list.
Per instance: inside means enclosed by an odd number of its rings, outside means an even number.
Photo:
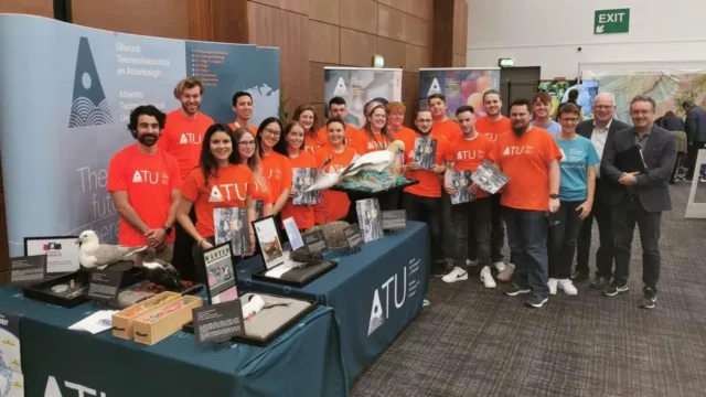
[{"label": "light blue t-shirt on the person beside the suited men", "polygon": [[561,151],[559,168],[561,182],[559,184],[559,200],[566,202],[584,202],[588,194],[588,167],[598,165],[600,159],[590,140],[577,136],[571,140],[555,138]]}]

